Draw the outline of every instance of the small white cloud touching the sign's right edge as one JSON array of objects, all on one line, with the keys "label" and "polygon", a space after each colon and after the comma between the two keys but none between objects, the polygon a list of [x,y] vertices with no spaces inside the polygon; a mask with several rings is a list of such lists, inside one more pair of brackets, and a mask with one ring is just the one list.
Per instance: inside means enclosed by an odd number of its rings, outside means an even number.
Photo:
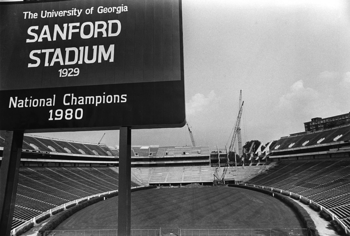
[{"label": "small white cloud touching the sign's right edge", "polygon": [[196,112],[200,112],[215,102],[217,99],[218,98],[213,90],[210,91],[207,96],[202,93],[196,93],[186,103],[186,113],[195,114]]}]

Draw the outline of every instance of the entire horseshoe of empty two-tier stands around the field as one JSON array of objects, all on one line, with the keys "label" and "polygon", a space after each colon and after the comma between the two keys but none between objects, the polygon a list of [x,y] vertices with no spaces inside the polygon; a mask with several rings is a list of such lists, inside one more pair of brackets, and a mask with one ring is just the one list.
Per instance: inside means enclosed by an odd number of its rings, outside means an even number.
[{"label": "entire horseshoe of empty two-tier stands around the field", "polygon": [[[0,134],[1,156],[4,139]],[[132,146],[132,186],[211,185],[228,167],[226,183],[300,194],[350,227],[349,140],[350,125],[291,134],[268,144],[252,166],[228,166],[226,149]],[[13,228],[63,203],[118,189],[118,163],[116,147],[25,135]]]}]

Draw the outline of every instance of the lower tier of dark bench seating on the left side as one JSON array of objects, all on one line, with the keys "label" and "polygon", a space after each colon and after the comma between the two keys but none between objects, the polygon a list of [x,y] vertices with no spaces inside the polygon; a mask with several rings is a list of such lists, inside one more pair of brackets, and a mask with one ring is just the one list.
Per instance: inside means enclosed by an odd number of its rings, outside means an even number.
[{"label": "lower tier of dark bench seating on the left side", "polygon": [[[131,185],[141,186],[134,176]],[[115,189],[116,167],[21,167],[12,228],[63,203]]]}]

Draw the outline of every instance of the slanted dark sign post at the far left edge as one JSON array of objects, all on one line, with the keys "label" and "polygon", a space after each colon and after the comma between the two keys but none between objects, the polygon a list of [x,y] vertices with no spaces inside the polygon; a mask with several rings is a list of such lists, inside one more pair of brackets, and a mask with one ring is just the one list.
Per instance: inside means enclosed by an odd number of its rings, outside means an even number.
[{"label": "slanted dark sign post at the far left edge", "polygon": [[23,132],[6,131],[0,167],[0,235],[10,235],[15,208]]}]

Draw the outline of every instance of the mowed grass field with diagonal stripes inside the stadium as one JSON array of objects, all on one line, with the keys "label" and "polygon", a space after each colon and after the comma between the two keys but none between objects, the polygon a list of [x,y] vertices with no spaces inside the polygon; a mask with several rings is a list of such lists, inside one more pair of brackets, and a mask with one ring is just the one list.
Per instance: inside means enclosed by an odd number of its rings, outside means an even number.
[{"label": "mowed grass field with diagonal stripes inside the stadium", "polygon": [[[118,197],[80,210],[56,230],[117,229]],[[176,232],[187,229],[304,228],[285,203],[232,187],[161,188],[131,194],[131,228]]]}]

